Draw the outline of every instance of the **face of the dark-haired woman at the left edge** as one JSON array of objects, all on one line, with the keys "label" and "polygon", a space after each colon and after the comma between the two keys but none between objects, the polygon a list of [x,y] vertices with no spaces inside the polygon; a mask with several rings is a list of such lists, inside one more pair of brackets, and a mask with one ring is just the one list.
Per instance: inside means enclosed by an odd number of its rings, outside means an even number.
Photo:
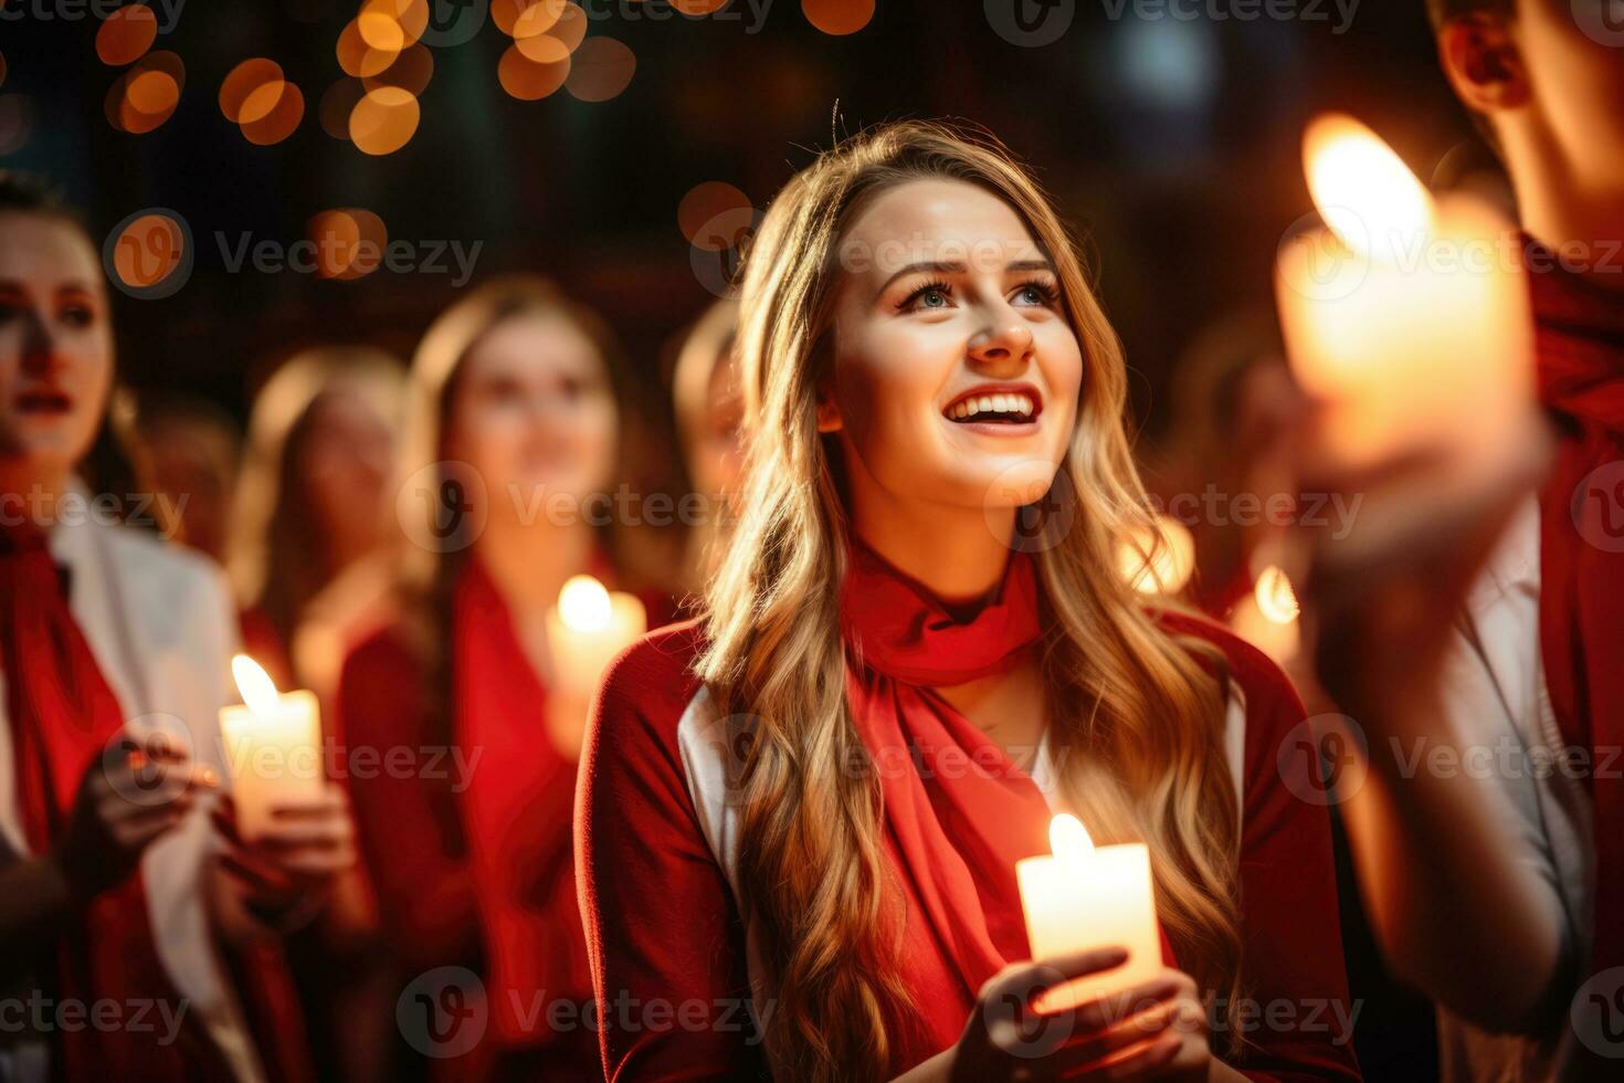
[{"label": "face of the dark-haired woman at the left edge", "polygon": [[0,463],[65,474],[89,451],[112,388],[101,261],[70,222],[0,214]]}]

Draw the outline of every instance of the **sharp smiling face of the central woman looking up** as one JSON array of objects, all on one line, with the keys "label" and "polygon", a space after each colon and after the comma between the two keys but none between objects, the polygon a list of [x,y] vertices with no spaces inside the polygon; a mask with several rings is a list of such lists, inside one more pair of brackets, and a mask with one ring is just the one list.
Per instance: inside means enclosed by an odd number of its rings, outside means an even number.
[{"label": "sharp smiling face of the central woman looking up", "polygon": [[1083,356],[1059,279],[1020,216],[976,185],[929,179],[874,200],[841,240],[838,430],[862,508],[1002,508],[1054,481]]}]

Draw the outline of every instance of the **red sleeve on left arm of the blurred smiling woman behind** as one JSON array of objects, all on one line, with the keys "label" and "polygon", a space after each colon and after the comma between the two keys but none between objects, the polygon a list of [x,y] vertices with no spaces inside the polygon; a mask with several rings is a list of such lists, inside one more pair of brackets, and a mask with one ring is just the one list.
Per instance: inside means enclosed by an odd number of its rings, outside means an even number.
[{"label": "red sleeve on left arm of the blurred smiling woman behind", "polygon": [[[429,739],[422,666],[391,630],[362,640],[338,684],[341,781],[349,789],[361,857],[396,958],[434,968],[479,956],[479,911],[456,796],[419,771],[390,770],[391,749]],[[398,755],[398,753],[396,753]]]}]

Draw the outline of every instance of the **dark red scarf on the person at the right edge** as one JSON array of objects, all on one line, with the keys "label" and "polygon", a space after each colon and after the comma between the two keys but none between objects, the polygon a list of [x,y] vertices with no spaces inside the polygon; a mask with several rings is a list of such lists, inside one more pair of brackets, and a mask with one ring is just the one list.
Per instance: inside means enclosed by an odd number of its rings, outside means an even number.
[{"label": "dark red scarf on the person at the right edge", "polygon": [[[1540,502],[1544,679],[1562,736],[1600,750],[1592,765],[1616,773],[1619,763],[1608,757],[1624,745],[1624,296],[1559,270],[1528,278],[1540,399],[1557,422],[1556,466]],[[1624,966],[1624,784],[1613,773],[1590,779],[1592,973]]]}]

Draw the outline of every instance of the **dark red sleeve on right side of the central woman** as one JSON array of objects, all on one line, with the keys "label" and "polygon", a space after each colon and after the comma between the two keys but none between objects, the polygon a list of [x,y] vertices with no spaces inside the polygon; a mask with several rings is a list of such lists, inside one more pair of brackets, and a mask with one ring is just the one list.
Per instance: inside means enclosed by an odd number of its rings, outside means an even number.
[{"label": "dark red sleeve on right side of the central woman", "polygon": [[1249,1046],[1236,1067],[1252,1080],[1358,1080],[1330,812],[1296,755],[1306,711],[1267,656],[1241,640],[1221,645],[1246,695],[1241,1029]]}]

